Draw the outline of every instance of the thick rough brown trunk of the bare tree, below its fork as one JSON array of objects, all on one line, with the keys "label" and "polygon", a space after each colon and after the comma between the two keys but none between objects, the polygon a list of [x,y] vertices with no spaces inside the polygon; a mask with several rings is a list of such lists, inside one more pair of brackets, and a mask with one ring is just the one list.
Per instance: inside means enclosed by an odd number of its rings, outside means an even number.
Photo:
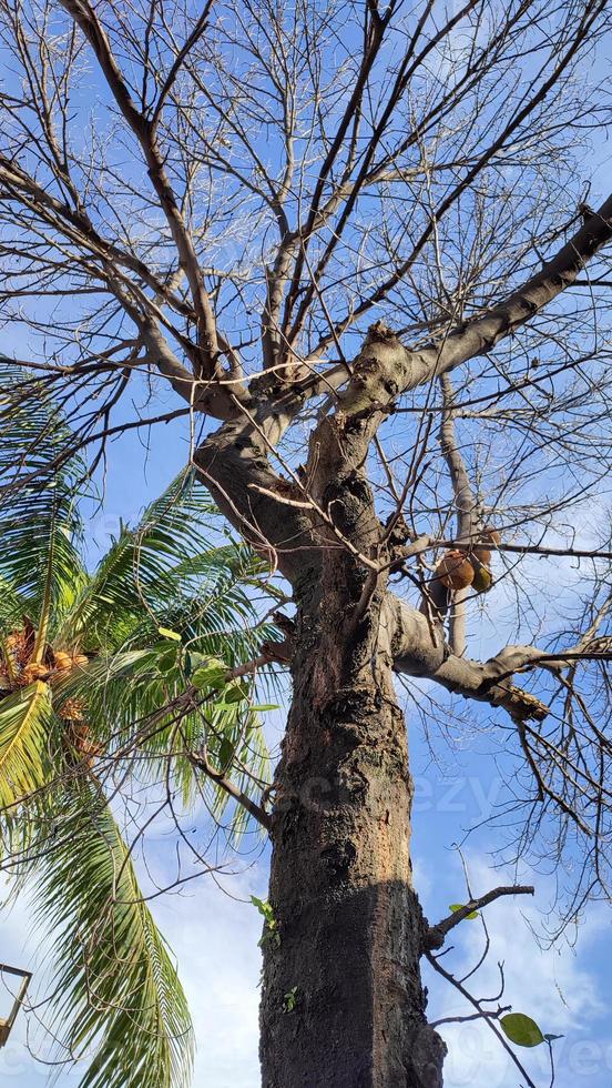
[{"label": "thick rough brown trunk of the bare tree, below its fork", "polygon": [[326,581],[298,611],[276,778],[263,1086],[438,1088],[445,1047],[425,1020],[412,783],[382,595],[350,622],[341,578]]}]

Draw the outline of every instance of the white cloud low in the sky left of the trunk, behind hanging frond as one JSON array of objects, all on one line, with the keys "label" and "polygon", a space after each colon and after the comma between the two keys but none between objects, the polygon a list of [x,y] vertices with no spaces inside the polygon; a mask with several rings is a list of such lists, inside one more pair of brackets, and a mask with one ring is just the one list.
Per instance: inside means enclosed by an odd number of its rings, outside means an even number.
[{"label": "white cloud low in the sky left of the trunk, behind hanging frond", "polygon": [[[265,870],[253,866],[226,878],[224,887],[228,894],[204,877],[193,891],[167,895],[151,904],[178,961],[190,1001],[197,1040],[194,1086],[259,1086],[257,941],[262,918],[249,897],[265,897],[266,880]],[[49,983],[42,954],[37,956],[39,944],[26,903],[2,916],[0,960],[35,970],[34,997],[43,995]],[[9,1044],[0,1049],[0,1084],[43,1088],[50,1069],[32,1057],[28,1042],[33,1054],[41,1055],[49,1041],[35,1017],[22,1014]],[[83,1069],[84,1066],[80,1071],[64,1068],[54,1084],[59,1088],[76,1088]]]}]

